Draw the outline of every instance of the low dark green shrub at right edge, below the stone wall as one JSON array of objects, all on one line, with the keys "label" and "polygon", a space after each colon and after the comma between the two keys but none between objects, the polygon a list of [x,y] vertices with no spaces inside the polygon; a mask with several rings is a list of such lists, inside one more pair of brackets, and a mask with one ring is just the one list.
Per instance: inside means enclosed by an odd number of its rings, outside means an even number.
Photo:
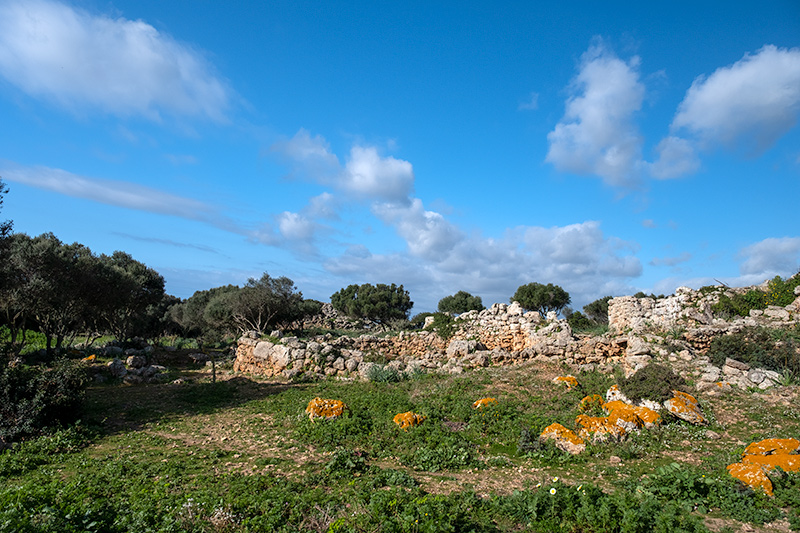
[{"label": "low dark green shrub at right edge, below the stone wall", "polygon": [[730,357],[759,368],[800,376],[800,328],[749,327],[711,341],[708,356],[717,365]]}]

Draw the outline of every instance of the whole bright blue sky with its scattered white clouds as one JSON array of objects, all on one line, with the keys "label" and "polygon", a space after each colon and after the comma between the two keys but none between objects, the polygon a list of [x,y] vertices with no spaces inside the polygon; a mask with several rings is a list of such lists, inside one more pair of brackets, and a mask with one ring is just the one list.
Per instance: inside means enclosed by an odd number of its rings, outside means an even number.
[{"label": "whole bright blue sky with its scattered white clouds", "polygon": [[0,218],[184,298],[794,274],[800,4],[650,4],[0,0]]}]

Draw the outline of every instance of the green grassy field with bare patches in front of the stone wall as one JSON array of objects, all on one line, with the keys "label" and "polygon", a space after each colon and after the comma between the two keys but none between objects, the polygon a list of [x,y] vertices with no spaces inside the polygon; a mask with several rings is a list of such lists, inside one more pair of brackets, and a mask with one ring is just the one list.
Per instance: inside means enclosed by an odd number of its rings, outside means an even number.
[{"label": "green grassy field with bare patches in front of the stone wall", "polygon": [[[800,475],[753,493],[725,466],[800,437],[800,387],[699,395],[678,420],[569,456],[538,443],[574,428],[613,377],[535,363],[397,383],[289,383],[184,367],[182,384],[94,385],[81,422],[0,454],[0,531],[792,531]],[[472,408],[494,397],[496,405]],[[348,406],[310,421],[315,397]],[[400,430],[394,415],[426,417]]]}]

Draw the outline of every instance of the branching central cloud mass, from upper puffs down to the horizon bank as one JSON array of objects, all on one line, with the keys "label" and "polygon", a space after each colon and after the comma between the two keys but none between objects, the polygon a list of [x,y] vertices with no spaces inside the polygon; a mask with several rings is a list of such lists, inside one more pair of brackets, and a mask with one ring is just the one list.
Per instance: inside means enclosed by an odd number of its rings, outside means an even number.
[{"label": "branching central cloud mass, from upper puffs down to the horizon bank", "polygon": [[300,214],[284,213],[262,228],[258,240],[282,247],[290,246],[291,238],[312,242],[320,229],[314,221],[323,213],[330,216],[346,202],[368,202],[371,214],[396,232],[407,253],[377,254],[363,244],[352,245],[329,257],[325,269],[346,283],[403,283],[413,291],[416,309],[435,309],[438,299],[458,290],[480,295],[487,303],[507,302],[517,287],[532,281],[558,283],[575,302],[588,303],[630,291],[630,280],[641,275],[638,245],[604,235],[598,222],[521,226],[499,238],[466,234],[413,196],[414,172],[408,161],[356,145],[340,165],[328,143],[305,130],[272,150],[310,179],[335,189],[336,198],[325,192]]}]

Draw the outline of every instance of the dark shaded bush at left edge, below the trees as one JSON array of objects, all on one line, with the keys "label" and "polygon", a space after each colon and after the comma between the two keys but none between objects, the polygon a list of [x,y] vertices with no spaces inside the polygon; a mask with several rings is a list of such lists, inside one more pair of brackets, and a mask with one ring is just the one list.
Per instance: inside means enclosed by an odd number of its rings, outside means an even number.
[{"label": "dark shaded bush at left edge, below the trees", "polygon": [[14,441],[77,419],[88,384],[81,362],[53,368],[25,365],[0,370],[0,439]]}]

